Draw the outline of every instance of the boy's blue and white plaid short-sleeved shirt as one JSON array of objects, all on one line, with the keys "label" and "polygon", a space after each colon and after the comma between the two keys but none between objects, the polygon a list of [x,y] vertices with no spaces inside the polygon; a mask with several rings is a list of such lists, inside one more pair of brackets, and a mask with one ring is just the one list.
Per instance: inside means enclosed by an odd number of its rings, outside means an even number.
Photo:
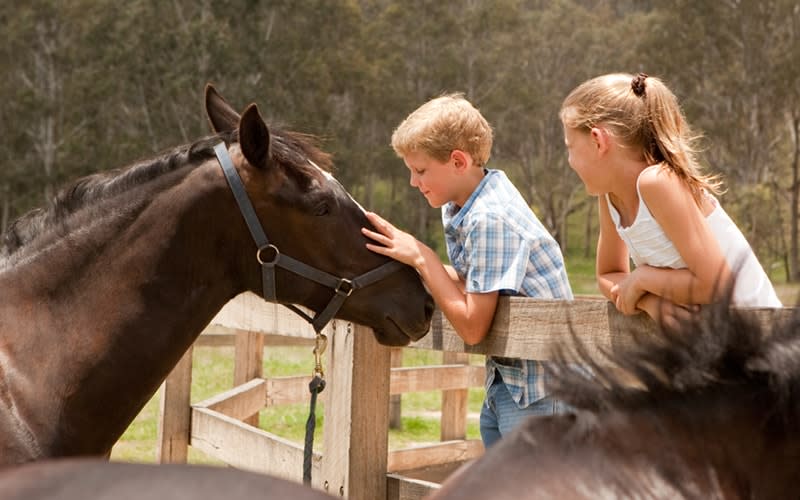
[{"label": "boy's blue and white plaid short-sleeved shirt", "polygon": [[[572,299],[564,258],[506,174],[486,170],[463,207],[442,207],[447,255],[468,293]],[[544,398],[539,361],[486,358],[486,388],[499,372],[520,408]]]}]

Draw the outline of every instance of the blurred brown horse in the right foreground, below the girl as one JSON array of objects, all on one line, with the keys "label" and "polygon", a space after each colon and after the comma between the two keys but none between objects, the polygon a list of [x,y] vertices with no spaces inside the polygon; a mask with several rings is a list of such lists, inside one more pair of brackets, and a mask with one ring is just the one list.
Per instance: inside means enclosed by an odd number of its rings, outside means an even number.
[{"label": "blurred brown horse in the right foreground, below the girl", "polygon": [[[563,364],[571,415],[531,418],[435,499],[800,498],[800,314],[726,304],[609,364]],[[572,359],[575,359],[574,357]]]}]

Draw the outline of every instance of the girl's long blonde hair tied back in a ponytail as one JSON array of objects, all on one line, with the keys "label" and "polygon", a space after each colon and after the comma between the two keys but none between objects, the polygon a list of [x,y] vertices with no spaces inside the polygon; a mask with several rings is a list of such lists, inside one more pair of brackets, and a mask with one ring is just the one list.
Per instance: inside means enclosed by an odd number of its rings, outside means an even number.
[{"label": "girl's long blonde hair tied back in a ponytail", "polygon": [[687,185],[695,201],[703,190],[719,194],[718,176],[701,172],[693,135],[678,99],[644,73],[598,76],[576,87],[559,113],[565,127],[603,126],[621,144],[641,149],[649,165],[663,163]]}]

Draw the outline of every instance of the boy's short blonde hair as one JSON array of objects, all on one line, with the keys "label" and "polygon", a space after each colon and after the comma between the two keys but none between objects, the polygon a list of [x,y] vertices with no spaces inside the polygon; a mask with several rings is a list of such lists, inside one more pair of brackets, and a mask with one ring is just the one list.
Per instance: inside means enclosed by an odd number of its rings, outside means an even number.
[{"label": "boy's short blonde hair", "polygon": [[419,151],[440,162],[460,149],[483,167],[492,151],[492,127],[463,94],[446,94],[408,115],[392,134],[392,148],[400,157]]}]

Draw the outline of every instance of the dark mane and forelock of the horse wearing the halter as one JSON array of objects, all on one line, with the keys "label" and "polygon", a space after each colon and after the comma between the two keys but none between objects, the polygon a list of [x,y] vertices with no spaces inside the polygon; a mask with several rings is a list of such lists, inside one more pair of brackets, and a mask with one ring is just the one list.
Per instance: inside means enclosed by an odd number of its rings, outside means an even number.
[{"label": "dark mane and forelock of the horse wearing the halter", "polygon": [[[167,173],[214,157],[214,145],[220,140],[228,144],[237,142],[238,131],[204,137],[166,150],[153,158],[76,180],[61,189],[46,208],[35,208],[11,223],[0,236],[0,264],[4,261],[7,263],[19,250],[54,228],[66,231],[67,220],[73,214],[160,179]],[[307,185],[310,178],[318,175],[308,160],[326,171],[333,168],[331,155],[319,149],[315,136],[280,128],[270,128],[270,157],[301,185]]]}]

